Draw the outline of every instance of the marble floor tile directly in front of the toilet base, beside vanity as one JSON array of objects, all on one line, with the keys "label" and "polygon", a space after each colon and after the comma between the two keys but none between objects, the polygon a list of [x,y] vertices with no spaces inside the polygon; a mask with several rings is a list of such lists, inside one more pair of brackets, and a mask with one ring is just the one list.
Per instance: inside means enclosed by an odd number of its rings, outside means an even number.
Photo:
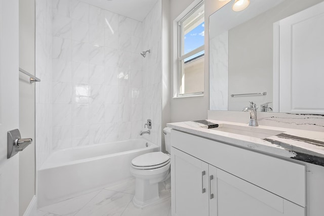
[{"label": "marble floor tile directly in front of the toilet base, beside vanity", "polygon": [[132,201],[121,216],[168,216],[170,208],[171,197],[143,209],[136,207]]}]

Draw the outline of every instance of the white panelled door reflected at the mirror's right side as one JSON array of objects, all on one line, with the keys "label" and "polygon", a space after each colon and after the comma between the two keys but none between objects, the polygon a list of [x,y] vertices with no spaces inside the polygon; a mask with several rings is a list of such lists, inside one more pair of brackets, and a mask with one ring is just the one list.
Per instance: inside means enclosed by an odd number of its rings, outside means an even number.
[{"label": "white panelled door reflected at the mirror's right side", "polygon": [[324,113],[324,2],[279,21],[279,112]]}]

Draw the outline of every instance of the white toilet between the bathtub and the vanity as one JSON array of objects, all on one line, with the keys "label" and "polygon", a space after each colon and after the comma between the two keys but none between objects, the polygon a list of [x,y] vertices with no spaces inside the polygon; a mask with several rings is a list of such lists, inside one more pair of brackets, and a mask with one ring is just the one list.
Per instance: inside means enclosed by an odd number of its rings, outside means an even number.
[{"label": "white toilet between the bathtub and the vanity", "polygon": [[[171,152],[171,128],[163,129],[166,151]],[[170,154],[150,152],[135,157],[131,164],[131,173],[136,178],[133,203],[144,208],[171,195]]]}]

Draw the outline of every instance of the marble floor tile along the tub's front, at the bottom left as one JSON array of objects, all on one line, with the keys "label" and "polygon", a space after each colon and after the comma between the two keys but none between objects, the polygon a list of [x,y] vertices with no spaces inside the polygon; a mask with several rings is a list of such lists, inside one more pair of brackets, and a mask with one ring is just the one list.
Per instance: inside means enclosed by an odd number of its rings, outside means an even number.
[{"label": "marble floor tile along the tub's front, at the bottom left", "polygon": [[[70,216],[82,209],[90,200],[92,200],[99,191],[77,196],[52,205],[45,206],[39,210],[51,212],[53,215]],[[45,214],[46,215],[46,214]],[[51,214],[49,214],[51,215]]]}]

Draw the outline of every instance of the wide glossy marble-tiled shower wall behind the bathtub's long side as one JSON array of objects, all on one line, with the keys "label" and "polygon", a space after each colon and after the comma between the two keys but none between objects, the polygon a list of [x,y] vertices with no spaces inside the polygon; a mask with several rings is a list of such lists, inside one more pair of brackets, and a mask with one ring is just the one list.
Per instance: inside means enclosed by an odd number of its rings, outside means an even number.
[{"label": "wide glossy marble-tiled shower wall behind the bathtub's long side", "polygon": [[53,149],[137,137],[142,23],[78,0],[52,2]]}]

